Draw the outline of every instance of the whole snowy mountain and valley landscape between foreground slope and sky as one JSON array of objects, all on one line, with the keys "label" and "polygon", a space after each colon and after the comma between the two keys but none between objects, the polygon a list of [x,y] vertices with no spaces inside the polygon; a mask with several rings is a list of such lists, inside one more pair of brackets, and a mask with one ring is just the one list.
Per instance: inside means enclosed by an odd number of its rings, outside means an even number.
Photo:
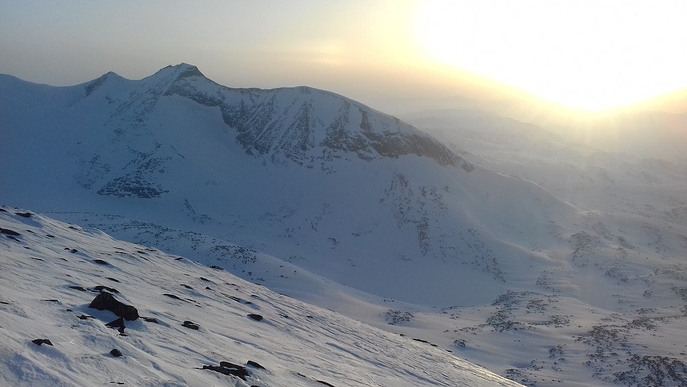
[{"label": "whole snowy mountain and valley landscape between foreground slope and sky", "polygon": [[229,89],[190,65],[72,87],[0,76],[0,90],[5,205],[222,266],[523,384],[687,380],[675,163],[479,112],[414,121],[432,137],[343,96]]}]

